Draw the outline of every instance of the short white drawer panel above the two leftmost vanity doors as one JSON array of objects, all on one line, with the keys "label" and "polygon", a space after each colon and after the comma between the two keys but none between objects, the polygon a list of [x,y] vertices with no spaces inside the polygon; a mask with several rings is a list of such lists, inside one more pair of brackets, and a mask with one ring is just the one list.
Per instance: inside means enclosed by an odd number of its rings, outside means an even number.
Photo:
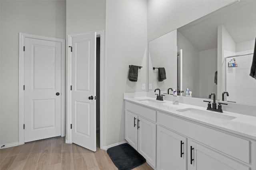
[{"label": "short white drawer panel above the two leftmost vanity doors", "polygon": [[149,109],[147,107],[139,106],[137,104],[133,104],[130,102],[125,102],[125,109],[156,122],[155,110]]}]

